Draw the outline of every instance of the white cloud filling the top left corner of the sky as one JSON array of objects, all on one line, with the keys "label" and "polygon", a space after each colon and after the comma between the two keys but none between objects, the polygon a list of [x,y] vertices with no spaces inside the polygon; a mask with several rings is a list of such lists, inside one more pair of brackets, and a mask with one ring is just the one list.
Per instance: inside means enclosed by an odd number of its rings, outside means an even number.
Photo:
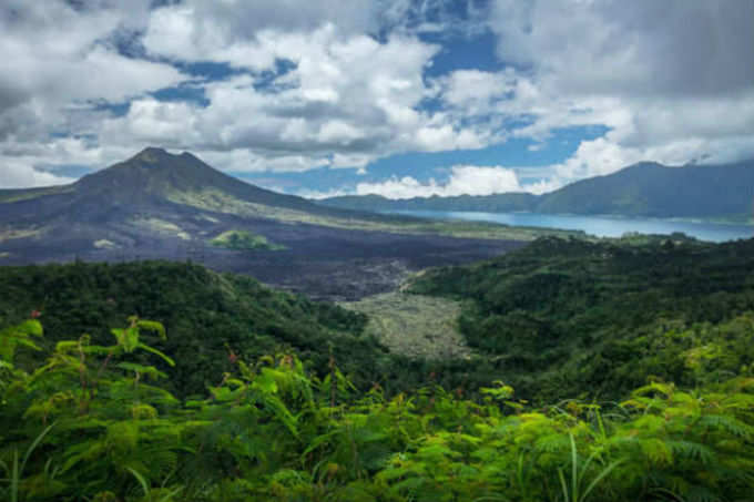
[{"label": "white cloud filling the top left corner of the sky", "polygon": [[[123,57],[108,43],[109,35],[135,22],[125,10],[10,3],[0,8],[0,52],[7,55],[0,113],[23,105],[48,113],[71,102],[118,102],[185,79],[169,64]],[[134,2],[134,11],[145,3]]]}]

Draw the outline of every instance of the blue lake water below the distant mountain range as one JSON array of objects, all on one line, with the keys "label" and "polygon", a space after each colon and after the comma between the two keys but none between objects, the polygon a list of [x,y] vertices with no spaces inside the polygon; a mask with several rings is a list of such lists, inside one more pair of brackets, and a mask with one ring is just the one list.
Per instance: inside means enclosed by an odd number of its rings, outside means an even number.
[{"label": "blue lake water below the distant mountain range", "polygon": [[669,235],[682,232],[701,240],[722,243],[754,237],[754,225],[687,222],[656,218],[556,215],[538,213],[473,213],[455,211],[393,211],[390,213],[432,219],[467,219],[511,226],[534,226],[584,230],[598,237],[620,237],[626,233]]}]

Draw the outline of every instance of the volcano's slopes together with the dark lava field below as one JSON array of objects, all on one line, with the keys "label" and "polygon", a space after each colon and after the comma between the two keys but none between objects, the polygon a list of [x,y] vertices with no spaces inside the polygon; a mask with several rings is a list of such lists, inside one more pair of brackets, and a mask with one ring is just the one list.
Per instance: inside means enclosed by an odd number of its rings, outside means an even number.
[{"label": "volcano's slopes together with the dark lava field below", "polygon": [[[205,193],[212,204],[197,198]],[[319,298],[354,299],[394,288],[409,270],[487,258],[520,245],[318,224],[354,219],[394,221],[276,194],[188,153],[146,148],[72,185],[0,192],[0,264],[191,259]],[[286,248],[231,250],[210,244],[226,230],[262,235]]]}]

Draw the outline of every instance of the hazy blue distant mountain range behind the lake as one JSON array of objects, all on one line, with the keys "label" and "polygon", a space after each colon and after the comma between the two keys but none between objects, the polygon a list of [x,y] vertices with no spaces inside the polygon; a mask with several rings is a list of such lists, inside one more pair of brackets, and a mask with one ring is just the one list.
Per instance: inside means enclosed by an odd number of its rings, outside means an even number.
[{"label": "hazy blue distant mountain range behind the lake", "polygon": [[645,162],[543,195],[506,193],[408,199],[363,195],[318,203],[360,211],[533,212],[743,222],[754,212],[754,161],[684,167]]}]

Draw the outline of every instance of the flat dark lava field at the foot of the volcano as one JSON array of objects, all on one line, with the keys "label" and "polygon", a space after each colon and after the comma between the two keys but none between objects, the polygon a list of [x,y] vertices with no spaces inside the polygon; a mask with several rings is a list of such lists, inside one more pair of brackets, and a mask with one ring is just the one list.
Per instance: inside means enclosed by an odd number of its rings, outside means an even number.
[{"label": "flat dark lava field at the foot of the volcano", "polygon": [[[247,274],[263,283],[304,293],[315,299],[356,300],[396,289],[412,272],[457,265],[500,255],[521,246],[512,240],[469,239],[436,235],[404,235],[349,230],[307,224],[224,218],[191,228],[192,237],[170,232],[123,228],[118,236],[88,226],[26,237],[2,244],[0,265],[50,262],[125,262],[191,259],[220,272]],[[247,229],[283,250],[232,250],[214,247],[198,236],[228,228]],[[102,242],[112,242],[113,246]],[[100,242],[100,248],[92,243]]]}]

